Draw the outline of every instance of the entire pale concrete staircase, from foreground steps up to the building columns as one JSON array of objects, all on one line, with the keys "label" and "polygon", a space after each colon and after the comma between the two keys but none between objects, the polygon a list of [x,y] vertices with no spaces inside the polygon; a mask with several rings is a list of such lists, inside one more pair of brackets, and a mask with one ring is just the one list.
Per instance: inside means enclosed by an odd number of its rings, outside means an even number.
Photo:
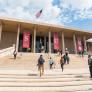
[{"label": "entire pale concrete staircase, from foreground steps up to the building columns", "polygon": [[[70,64],[60,69],[60,56],[43,54],[46,60],[45,74],[39,77],[37,59],[40,54],[19,53],[0,59],[0,92],[92,92],[87,56],[81,58],[70,54]],[[56,62],[56,68],[49,70],[48,57]]]}]

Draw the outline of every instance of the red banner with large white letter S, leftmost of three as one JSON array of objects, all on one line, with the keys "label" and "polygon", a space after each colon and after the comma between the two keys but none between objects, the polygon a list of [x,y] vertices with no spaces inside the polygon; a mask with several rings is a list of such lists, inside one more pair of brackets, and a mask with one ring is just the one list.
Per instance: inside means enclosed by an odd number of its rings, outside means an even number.
[{"label": "red banner with large white letter S, leftmost of three", "polygon": [[30,48],[30,33],[23,33],[23,48]]}]

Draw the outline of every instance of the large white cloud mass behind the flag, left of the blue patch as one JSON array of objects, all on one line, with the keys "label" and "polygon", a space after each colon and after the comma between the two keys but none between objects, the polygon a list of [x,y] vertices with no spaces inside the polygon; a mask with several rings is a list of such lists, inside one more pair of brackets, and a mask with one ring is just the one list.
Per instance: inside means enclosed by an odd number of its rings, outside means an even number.
[{"label": "large white cloud mass behind the flag, left of the blue patch", "polygon": [[[39,19],[36,13],[43,9]],[[52,0],[0,0],[0,16],[57,23],[60,8],[53,6]]]}]

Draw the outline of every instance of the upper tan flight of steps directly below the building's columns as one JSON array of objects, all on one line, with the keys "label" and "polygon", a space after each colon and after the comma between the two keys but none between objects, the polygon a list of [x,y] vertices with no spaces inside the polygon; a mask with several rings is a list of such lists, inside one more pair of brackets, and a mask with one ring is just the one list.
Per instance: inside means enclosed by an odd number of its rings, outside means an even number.
[{"label": "upper tan flight of steps directly below the building's columns", "polygon": [[[45,59],[45,68],[48,69],[48,58],[51,56],[56,63],[56,68],[60,68],[60,56],[57,54],[43,54]],[[13,55],[6,56],[0,59],[0,68],[11,68],[11,69],[37,69],[37,60],[40,53],[19,53],[17,59],[13,59]],[[68,68],[81,68],[87,67],[87,56],[79,57],[78,55],[69,54],[70,64],[65,67]]]}]

